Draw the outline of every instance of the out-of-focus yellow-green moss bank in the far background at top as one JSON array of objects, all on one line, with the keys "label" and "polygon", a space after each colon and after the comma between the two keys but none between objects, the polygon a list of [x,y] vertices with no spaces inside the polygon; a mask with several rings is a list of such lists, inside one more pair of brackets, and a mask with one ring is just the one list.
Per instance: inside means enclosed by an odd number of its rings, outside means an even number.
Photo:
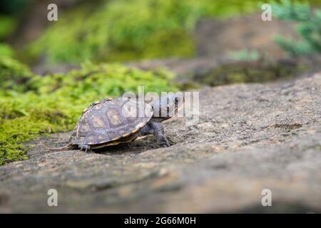
[{"label": "out-of-focus yellow-green moss bank in the far background at top", "polygon": [[193,56],[192,33],[198,19],[260,10],[258,2],[113,0],[85,5],[59,14],[58,21],[26,49],[26,58],[45,53],[47,63],[79,63]]}]

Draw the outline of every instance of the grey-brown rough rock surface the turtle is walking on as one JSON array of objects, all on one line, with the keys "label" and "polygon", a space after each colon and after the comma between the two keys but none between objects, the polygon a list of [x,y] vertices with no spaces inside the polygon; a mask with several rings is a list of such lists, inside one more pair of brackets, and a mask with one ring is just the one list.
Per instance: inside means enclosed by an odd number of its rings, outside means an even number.
[{"label": "grey-brown rough rock surface the turtle is walking on", "polygon": [[0,167],[0,212],[321,212],[321,73],[204,88],[197,125],[164,125],[168,148],[151,136],[50,152],[70,133],[35,140],[29,160]]}]

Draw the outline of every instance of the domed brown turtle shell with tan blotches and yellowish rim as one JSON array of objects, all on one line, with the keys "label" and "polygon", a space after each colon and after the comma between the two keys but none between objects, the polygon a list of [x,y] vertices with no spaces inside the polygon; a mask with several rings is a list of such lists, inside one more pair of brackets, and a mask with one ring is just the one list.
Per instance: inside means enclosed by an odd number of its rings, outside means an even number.
[{"label": "domed brown turtle shell with tan blotches and yellowish rim", "polygon": [[[139,110],[143,110],[143,115],[138,115],[138,108],[142,108]],[[94,148],[135,140],[152,115],[151,105],[147,103],[124,98],[95,102],[83,110],[69,143],[94,145]]]}]

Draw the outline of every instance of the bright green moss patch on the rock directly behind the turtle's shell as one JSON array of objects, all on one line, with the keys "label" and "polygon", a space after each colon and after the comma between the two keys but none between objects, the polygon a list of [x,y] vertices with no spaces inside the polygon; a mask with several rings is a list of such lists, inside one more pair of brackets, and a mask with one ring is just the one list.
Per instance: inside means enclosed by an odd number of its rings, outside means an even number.
[{"label": "bright green moss patch on the rock directly behind the turtle's shell", "polygon": [[[39,135],[72,130],[82,110],[95,100],[137,92],[138,86],[145,91],[176,90],[169,83],[172,73],[119,64],[85,63],[81,70],[47,76],[36,76],[8,58],[0,58],[1,66],[0,72],[11,72],[13,80],[0,84],[0,165],[26,159],[24,143]],[[16,86],[6,89],[13,82]]]}]

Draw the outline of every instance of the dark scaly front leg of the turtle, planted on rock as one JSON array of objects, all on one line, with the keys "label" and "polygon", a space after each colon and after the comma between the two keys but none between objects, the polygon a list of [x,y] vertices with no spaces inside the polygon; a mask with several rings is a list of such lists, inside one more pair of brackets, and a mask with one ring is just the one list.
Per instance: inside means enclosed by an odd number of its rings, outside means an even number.
[{"label": "dark scaly front leg of the turtle, planted on rock", "polygon": [[164,128],[161,123],[151,121],[141,129],[141,135],[153,134],[156,138],[156,142],[161,147],[169,147],[170,144],[164,135]]}]

